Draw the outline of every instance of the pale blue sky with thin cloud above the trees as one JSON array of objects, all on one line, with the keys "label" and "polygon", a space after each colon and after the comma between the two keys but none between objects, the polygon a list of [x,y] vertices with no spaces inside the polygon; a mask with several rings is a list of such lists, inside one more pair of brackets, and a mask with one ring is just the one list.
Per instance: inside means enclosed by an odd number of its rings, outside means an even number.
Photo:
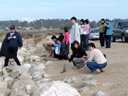
[{"label": "pale blue sky with thin cloud above the trees", "polygon": [[128,0],[0,0],[0,21],[128,18]]}]

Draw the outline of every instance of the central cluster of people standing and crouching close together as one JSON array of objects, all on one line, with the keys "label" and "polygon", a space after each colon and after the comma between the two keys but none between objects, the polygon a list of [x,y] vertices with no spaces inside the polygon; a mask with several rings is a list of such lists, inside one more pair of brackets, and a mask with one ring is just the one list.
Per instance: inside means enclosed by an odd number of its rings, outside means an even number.
[{"label": "central cluster of people standing and crouching close together", "polygon": [[[77,19],[72,17],[71,22],[73,25],[70,34],[68,28],[65,27],[64,36],[60,34],[58,38],[56,36],[51,38],[55,42],[55,45],[53,45],[54,58],[68,60],[78,69],[84,68],[86,65],[96,74],[104,72],[104,68],[107,66],[105,55],[99,49],[96,49],[94,43],[89,43],[89,20],[81,19],[79,25]],[[69,46],[72,50],[71,56],[69,56]],[[91,51],[89,56],[86,53],[88,50]]]}]

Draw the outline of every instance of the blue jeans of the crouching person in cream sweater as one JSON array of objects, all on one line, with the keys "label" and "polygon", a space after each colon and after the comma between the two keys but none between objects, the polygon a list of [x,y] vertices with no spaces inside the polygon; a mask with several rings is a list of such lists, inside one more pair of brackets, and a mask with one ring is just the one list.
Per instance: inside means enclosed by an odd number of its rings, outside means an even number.
[{"label": "blue jeans of the crouching person in cream sweater", "polygon": [[98,64],[96,62],[87,62],[87,67],[92,71],[95,72],[97,69],[102,69],[107,66],[107,62],[103,64]]}]

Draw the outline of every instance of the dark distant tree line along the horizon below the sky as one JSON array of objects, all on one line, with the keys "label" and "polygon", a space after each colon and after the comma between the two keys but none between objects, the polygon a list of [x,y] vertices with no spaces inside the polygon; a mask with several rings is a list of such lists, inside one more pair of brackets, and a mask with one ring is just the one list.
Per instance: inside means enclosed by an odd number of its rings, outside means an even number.
[{"label": "dark distant tree line along the horizon below the sky", "polygon": [[[122,20],[122,19],[114,19],[112,21],[118,21],[118,20]],[[70,29],[72,24],[69,19],[40,19],[32,22],[18,21],[18,20],[0,21],[0,29],[6,30],[10,25],[15,25],[19,29],[29,27],[35,30],[41,30],[41,29],[63,29],[65,26]],[[100,25],[100,21],[90,22],[91,28],[97,28],[99,27],[99,25]]]}]

